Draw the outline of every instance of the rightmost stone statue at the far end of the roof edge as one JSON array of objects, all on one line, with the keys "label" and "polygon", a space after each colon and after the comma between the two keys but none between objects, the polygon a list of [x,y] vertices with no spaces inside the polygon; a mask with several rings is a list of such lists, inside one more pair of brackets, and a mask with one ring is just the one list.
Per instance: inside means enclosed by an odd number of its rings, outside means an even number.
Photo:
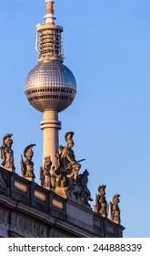
[{"label": "rightmost stone statue at the far end of the roof edge", "polygon": [[119,200],[120,195],[116,194],[113,197],[113,203],[110,202],[110,211],[111,211],[111,216],[110,219],[114,221],[117,224],[120,224],[120,208],[118,207],[118,203],[120,202]]}]

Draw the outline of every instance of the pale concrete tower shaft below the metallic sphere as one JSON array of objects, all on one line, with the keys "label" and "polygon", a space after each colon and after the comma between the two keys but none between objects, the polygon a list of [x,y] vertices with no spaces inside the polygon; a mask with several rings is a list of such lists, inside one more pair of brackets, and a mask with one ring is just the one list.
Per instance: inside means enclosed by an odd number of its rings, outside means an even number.
[{"label": "pale concrete tower shaft below the metallic sphere", "polygon": [[52,165],[55,165],[55,152],[58,151],[58,130],[61,129],[61,122],[58,121],[58,112],[45,111],[44,121],[41,122],[41,130],[44,131],[44,154],[45,157],[51,157]]}]

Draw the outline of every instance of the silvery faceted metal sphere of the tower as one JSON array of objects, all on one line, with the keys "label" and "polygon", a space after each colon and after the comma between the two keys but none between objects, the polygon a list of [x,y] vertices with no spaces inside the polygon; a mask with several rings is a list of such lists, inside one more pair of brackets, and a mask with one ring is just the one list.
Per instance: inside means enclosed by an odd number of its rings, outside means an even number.
[{"label": "silvery faceted metal sphere of the tower", "polygon": [[60,61],[39,62],[25,80],[27,100],[39,112],[64,111],[75,93],[75,77]]}]

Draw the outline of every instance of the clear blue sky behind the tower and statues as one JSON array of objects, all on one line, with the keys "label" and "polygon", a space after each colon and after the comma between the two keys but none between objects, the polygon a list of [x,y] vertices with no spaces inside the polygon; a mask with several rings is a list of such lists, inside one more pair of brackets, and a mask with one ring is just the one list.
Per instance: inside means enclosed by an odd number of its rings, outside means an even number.
[{"label": "clear blue sky behind the tower and statues", "polygon": [[[37,183],[43,114],[26,101],[24,84],[37,63],[35,25],[44,15],[44,0],[0,0],[1,142],[14,134],[18,174],[20,154],[36,144]],[[108,202],[119,193],[124,236],[150,237],[150,1],[55,0],[55,16],[77,82],[75,101],[59,114],[60,144],[75,132],[76,159],[86,159],[94,200],[102,184]]]}]

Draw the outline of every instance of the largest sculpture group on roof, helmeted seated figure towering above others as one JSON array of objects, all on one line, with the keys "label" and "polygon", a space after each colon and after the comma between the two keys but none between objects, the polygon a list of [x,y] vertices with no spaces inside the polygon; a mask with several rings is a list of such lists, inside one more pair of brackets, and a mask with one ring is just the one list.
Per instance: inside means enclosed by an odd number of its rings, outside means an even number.
[{"label": "largest sculpture group on roof, helmeted seated figure towering above others", "polygon": [[88,171],[79,175],[80,161],[75,160],[73,151],[73,132],[65,134],[66,145],[59,146],[60,153],[55,154],[55,166],[51,168],[51,185],[56,194],[69,198],[85,207],[89,207],[88,201],[92,201],[91,193],[87,187]]}]

